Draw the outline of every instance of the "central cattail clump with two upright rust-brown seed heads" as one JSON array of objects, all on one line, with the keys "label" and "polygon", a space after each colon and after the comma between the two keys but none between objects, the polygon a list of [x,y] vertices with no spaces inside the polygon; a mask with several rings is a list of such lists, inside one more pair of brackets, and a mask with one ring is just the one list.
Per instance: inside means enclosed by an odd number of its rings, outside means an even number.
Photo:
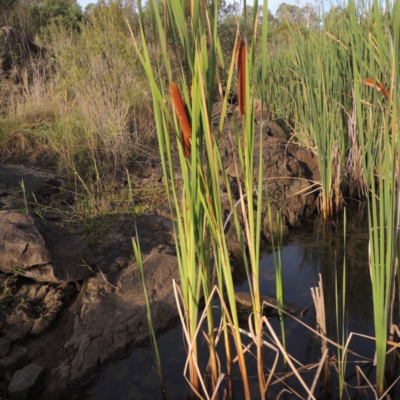
[{"label": "central cattail clump with two upright rust-brown seed heads", "polygon": [[[188,344],[188,381],[191,395],[201,396],[207,389],[199,372],[198,333],[205,326],[198,323],[200,297],[204,296],[206,330],[203,332],[209,350],[209,373],[211,376],[210,396],[218,396],[221,373],[218,366],[215,343],[223,336],[225,343],[226,373],[229,395],[231,392],[232,362],[237,359],[243,382],[245,398],[250,398],[244,351],[241,343],[233,279],[227,243],[223,234],[224,215],[220,184],[224,183],[233,212],[233,219],[242,237],[243,227],[234,206],[235,200],[229,187],[220,153],[219,137],[226,112],[227,99],[235,73],[238,73],[239,113],[242,132],[236,123],[235,135],[238,143],[236,175],[240,191],[241,214],[247,239],[246,249],[241,240],[242,253],[247,266],[254,309],[253,324],[258,354],[258,378],[261,397],[265,396],[265,380],[262,363],[262,321],[258,289],[258,265],[260,246],[260,221],[262,201],[262,141],[258,173],[254,174],[254,131],[253,81],[254,49],[256,26],[258,24],[257,4],[254,5],[254,35],[239,37],[236,34],[230,65],[225,66],[217,33],[217,2],[167,1],[163,15],[150,1],[148,3],[151,30],[141,23],[140,36],[132,34],[136,54],[139,56],[150,82],[155,125],[162,161],[166,190],[171,213],[175,215],[174,229],[181,287],[176,287],[177,303],[181,309],[184,332]],[[264,8],[266,9],[266,1]],[[140,20],[144,20],[142,6],[138,2]],[[161,56],[156,67],[150,59],[147,42],[152,35]],[[266,25],[262,32],[266,42]],[[170,54],[176,54],[178,68],[172,67]],[[236,58],[236,62],[235,62]],[[265,62],[262,64],[265,77]],[[225,93],[221,90],[219,73],[226,81]],[[167,76],[167,83],[163,77]],[[262,87],[264,87],[265,82]],[[213,130],[211,113],[214,91],[217,88],[222,98],[222,113],[217,131]],[[172,112],[167,103],[171,98]],[[236,121],[237,122],[237,121]],[[240,143],[243,143],[241,145]],[[178,178],[179,176],[179,178]],[[257,196],[254,195],[254,181]],[[255,208],[256,206],[256,208]],[[247,251],[249,262],[247,261]],[[223,294],[220,328],[216,329],[212,296],[215,286]],[[229,309],[229,312],[228,312]],[[219,325],[219,324],[218,324]],[[215,330],[216,329],[216,330]],[[231,354],[231,345],[235,355]]]}]

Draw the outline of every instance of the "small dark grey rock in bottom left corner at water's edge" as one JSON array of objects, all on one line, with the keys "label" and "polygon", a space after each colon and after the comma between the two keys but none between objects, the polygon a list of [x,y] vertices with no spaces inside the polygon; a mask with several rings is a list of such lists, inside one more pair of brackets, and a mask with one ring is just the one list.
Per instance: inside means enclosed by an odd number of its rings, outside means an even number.
[{"label": "small dark grey rock in bottom left corner at water's edge", "polygon": [[17,370],[8,385],[10,400],[30,400],[39,391],[43,384],[45,368],[29,364]]}]

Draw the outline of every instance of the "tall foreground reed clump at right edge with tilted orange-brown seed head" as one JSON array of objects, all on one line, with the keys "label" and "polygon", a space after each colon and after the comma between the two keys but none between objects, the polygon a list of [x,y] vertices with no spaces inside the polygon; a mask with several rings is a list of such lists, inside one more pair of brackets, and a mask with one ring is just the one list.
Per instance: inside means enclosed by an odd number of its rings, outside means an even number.
[{"label": "tall foreground reed clump at right edge with tilted orange-brown seed head", "polygon": [[[357,126],[369,205],[369,268],[376,341],[376,391],[384,388],[398,263],[400,1],[386,8],[349,1]],[[364,35],[359,32],[364,32]],[[371,80],[373,87],[369,87]],[[379,90],[380,88],[380,90]],[[387,98],[388,97],[388,98]]]}]

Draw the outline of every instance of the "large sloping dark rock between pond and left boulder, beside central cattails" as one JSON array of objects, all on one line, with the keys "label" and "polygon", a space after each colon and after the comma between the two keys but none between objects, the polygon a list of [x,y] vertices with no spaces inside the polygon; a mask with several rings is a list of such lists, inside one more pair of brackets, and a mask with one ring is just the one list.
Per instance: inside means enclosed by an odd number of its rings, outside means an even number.
[{"label": "large sloping dark rock between pond and left boulder, beside central cattails", "polygon": [[[170,220],[143,216],[136,225],[150,309],[157,315],[154,328],[166,330],[176,323],[172,279],[179,281]],[[73,335],[64,346],[71,357],[63,368],[63,373],[68,370],[69,386],[90,380],[103,365],[149,340],[144,295],[132,254],[133,236],[133,220],[123,217],[116,221],[107,235],[107,255],[99,264],[103,274],[85,281]]]}]

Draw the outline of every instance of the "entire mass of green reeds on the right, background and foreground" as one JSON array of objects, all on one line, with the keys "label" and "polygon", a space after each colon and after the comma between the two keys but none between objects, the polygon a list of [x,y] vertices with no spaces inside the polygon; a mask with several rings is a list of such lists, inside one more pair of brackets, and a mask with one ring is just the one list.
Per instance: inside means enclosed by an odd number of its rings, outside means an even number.
[{"label": "entire mass of green reeds on the right, background and foreground", "polygon": [[371,194],[378,394],[384,388],[398,257],[399,4],[383,9],[377,1],[352,1],[332,8],[323,30],[307,37],[289,24],[292,44],[268,58],[266,84],[269,107],[291,126],[294,139],[315,151],[325,209],[331,208],[325,215],[338,208],[349,183],[359,185],[359,195]]}]

